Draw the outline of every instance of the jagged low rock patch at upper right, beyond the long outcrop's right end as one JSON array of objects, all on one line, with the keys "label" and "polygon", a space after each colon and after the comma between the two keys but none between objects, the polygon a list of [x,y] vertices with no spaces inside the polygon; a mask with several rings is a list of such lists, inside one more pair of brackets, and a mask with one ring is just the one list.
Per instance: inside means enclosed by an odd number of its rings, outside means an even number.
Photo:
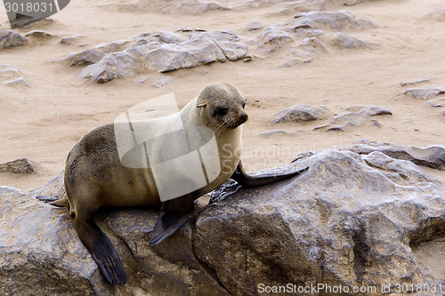
[{"label": "jagged low rock patch at upper right, beyond the long outcrop's right end", "polygon": [[270,52],[290,43],[290,52],[284,55],[286,60],[280,65],[287,68],[300,62],[311,62],[320,53],[328,52],[324,43],[335,50],[376,48],[378,44],[369,43],[343,32],[366,28],[378,28],[378,26],[347,11],[301,12],[293,19],[272,25],[249,40],[248,51],[260,52],[261,57],[267,57]]}]

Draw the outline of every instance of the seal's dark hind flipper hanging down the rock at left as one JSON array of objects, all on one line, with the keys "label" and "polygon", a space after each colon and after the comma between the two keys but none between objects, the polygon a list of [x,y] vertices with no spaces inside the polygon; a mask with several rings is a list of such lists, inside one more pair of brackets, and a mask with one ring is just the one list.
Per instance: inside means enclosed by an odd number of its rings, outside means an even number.
[{"label": "seal's dark hind flipper hanging down the rock at left", "polygon": [[109,284],[125,284],[126,274],[122,262],[108,236],[94,222],[93,215],[88,219],[80,219],[77,216],[76,230],[80,240],[92,254]]}]

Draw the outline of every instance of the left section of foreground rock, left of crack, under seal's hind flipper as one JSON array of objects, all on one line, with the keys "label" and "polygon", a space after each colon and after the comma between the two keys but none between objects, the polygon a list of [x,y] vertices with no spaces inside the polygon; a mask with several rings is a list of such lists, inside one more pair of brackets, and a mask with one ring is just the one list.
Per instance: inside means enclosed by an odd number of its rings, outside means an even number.
[{"label": "left section of foreground rock, left of crack, under seal's hind flipper", "polygon": [[37,195],[65,196],[63,173],[28,195],[0,187],[0,289],[4,294],[228,294],[196,259],[191,220],[169,237],[168,245],[150,247],[150,228],[157,212],[99,212],[96,220],[119,253],[128,276],[127,284],[113,286],[101,276],[78,239],[68,211],[36,200]]}]

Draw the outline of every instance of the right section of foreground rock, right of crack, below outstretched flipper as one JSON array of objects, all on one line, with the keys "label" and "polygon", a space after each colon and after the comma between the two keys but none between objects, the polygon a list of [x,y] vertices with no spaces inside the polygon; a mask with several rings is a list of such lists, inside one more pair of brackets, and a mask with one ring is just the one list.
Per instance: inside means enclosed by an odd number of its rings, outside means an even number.
[{"label": "right section of foreground rock, right of crack, below outstretched flipper", "polygon": [[431,280],[411,245],[440,236],[445,191],[417,165],[389,158],[328,149],[296,162],[310,167],[298,178],[229,184],[198,216],[198,259],[237,295],[264,282],[376,286],[383,295],[394,281]]}]

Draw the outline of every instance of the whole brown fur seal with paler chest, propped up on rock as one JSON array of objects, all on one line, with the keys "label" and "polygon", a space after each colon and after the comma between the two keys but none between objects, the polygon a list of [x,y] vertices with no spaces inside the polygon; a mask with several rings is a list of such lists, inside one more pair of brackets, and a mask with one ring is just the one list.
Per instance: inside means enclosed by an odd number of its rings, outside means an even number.
[{"label": "whole brown fur seal with paler chest, propped up on rock", "polygon": [[[91,252],[105,279],[110,284],[125,284],[126,274],[119,256],[108,236],[94,222],[93,215],[99,208],[124,206],[154,208],[160,205],[158,220],[150,238],[150,244],[155,245],[172,235],[191,217],[195,199],[218,188],[230,178],[244,186],[260,186],[307,170],[304,168],[279,175],[255,177],[245,172],[240,161],[241,124],[244,124],[248,118],[245,105],[246,101],[235,86],[227,83],[207,85],[199,92],[196,99],[191,100],[177,114],[182,120],[182,130],[185,132],[176,134],[174,137],[164,137],[150,146],[149,150],[154,156],[165,154],[165,151],[173,151],[169,152],[169,155],[181,155],[184,153],[182,147],[196,146],[197,139],[198,143],[202,139],[204,139],[203,142],[214,139],[216,143],[216,151],[201,153],[198,158],[200,159],[198,168],[202,167],[203,171],[206,171],[204,185],[197,187],[197,182],[190,180],[191,184],[182,182],[184,186],[178,187],[174,185],[177,181],[172,180],[176,178],[172,174],[161,175],[164,180],[167,180],[166,184],[170,185],[166,186],[166,189],[175,187],[180,190],[180,194],[174,193],[175,198],[170,196],[169,199],[161,202],[160,192],[165,188],[161,188],[162,185],[157,183],[155,171],[158,164],[156,162],[150,159],[150,164],[148,164],[147,160],[145,167],[124,164],[126,154],[118,151],[117,145],[117,130],[121,125],[116,123],[101,125],[92,132],[88,132],[69,152],[64,178],[68,197],[55,199],[37,196],[37,198],[54,206],[69,208],[69,214],[75,217],[75,226],[80,240]],[[163,125],[158,124],[158,126],[170,126],[174,120],[172,118],[164,119],[164,122],[161,122]],[[130,127],[132,131],[140,128],[142,131],[150,132],[153,130],[152,124],[153,120],[142,120],[133,123]],[[193,129],[197,127],[206,127],[212,132],[203,133],[198,130],[198,132],[195,131],[198,136],[190,136]],[[139,145],[138,147],[147,152],[147,146]],[[191,147],[190,151],[198,148]],[[137,156],[137,153],[133,154],[135,155]],[[205,165],[206,159],[209,161],[216,159],[218,165],[209,168]],[[132,160],[127,162],[132,163]],[[166,167],[169,166],[173,165],[167,163]],[[189,180],[187,178],[191,171],[196,169],[190,168],[188,163],[179,168],[176,171],[178,175],[185,176],[181,177],[183,180]],[[191,189],[185,190],[189,185]]]}]

